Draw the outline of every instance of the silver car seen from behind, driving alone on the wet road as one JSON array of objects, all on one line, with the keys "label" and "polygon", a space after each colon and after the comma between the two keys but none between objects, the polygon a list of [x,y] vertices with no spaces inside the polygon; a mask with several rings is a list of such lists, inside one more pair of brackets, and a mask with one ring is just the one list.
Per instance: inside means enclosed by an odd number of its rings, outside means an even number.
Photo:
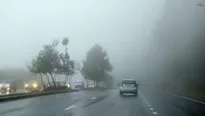
[{"label": "silver car seen from behind, driving alone on the wet road", "polygon": [[120,95],[123,95],[123,93],[133,93],[135,96],[137,96],[138,93],[138,84],[133,79],[124,79],[122,80],[122,83],[120,84]]}]

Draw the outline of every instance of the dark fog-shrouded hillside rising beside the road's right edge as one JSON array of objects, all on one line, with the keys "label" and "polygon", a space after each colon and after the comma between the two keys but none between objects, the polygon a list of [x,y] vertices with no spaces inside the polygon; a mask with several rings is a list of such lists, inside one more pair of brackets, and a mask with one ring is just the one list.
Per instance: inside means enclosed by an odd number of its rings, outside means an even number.
[{"label": "dark fog-shrouded hillside rising beside the road's right edge", "polygon": [[163,84],[175,91],[204,88],[205,7],[197,5],[204,3],[166,1],[144,61],[147,68],[143,76],[149,83]]}]

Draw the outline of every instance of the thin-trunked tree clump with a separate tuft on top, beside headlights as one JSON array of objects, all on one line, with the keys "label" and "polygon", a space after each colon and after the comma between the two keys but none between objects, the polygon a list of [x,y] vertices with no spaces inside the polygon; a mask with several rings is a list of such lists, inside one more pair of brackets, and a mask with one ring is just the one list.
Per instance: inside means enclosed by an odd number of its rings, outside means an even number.
[{"label": "thin-trunked tree clump with a separate tuft on top, beside headlights", "polygon": [[[68,39],[63,40],[63,45],[67,46]],[[53,41],[51,44],[44,45],[43,49],[37,54],[31,62],[30,66],[27,66],[28,70],[33,74],[38,74],[41,77],[41,83],[45,88],[43,83],[43,77],[47,77],[47,81],[50,84],[49,76],[52,79],[54,87],[56,87],[56,79],[53,76],[54,74],[63,74],[66,75],[66,78],[69,75],[74,73],[74,61],[70,60],[70,57],[67,52],[67,47],[65,53],[60,53],[57,50],[59,42],[57,40]],[[65,79],[65,83],[66,83]]]}]

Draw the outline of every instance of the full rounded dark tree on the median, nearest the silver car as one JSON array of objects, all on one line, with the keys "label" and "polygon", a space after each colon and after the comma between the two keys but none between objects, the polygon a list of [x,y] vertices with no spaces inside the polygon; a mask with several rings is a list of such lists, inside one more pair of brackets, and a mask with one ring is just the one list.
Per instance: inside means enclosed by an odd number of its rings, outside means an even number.
[{"label": "full rounded dark tree on the median, nearest the silver car", "polygon": [[112,69],[107,52],[100,45],[94,45],[87,52],[82,68],[86,79],[93,80],[97,85],[100,81],[105,80],[105,73],[112,72]]}]

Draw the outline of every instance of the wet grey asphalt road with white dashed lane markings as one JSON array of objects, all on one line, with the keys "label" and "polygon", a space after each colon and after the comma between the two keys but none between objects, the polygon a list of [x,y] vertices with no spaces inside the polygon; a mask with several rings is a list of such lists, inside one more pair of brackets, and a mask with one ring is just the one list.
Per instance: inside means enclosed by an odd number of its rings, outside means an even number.
[{"label": "wet grey asphalt road with white dashed lane markings", "polygon": [[[187,104],[194,109],[187,110]],[[139,89],[137,97],[119,96],[117,89],[42,96],[0,104],[0,116],[205,116],[203,103],[179,96]],[[204,110],[205,111],[205,110]]]}]

